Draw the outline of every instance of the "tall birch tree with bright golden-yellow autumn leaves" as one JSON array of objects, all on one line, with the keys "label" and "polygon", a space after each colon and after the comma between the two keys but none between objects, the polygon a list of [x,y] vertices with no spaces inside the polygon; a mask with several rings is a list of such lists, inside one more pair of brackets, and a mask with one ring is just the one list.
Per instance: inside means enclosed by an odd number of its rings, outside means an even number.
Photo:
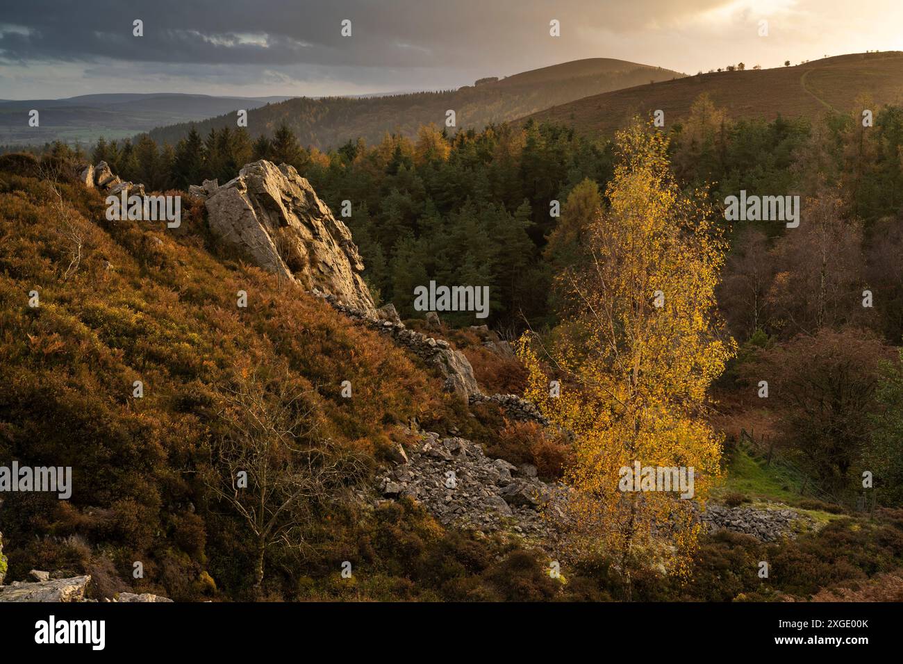
[{"label": "tall birch tree with bright golden-yellow autumn leaves", "polygon": [[[525,335],[527,397],[577,434],[567,480],[573,546],[682,573],[698,525],[673,492],[619,490],[619,469],[683,466],[696,500],[719,476],[720,441],[704,419],[706,390],[731,357],[714,314],[725,245],[702,195],[676,185],[667,139],[638,122],[619,133],[609,204],[584,235],[588,257],[557,278],[567,301],[550,338]],[[549,396],[545,367],[561,378]]]}]

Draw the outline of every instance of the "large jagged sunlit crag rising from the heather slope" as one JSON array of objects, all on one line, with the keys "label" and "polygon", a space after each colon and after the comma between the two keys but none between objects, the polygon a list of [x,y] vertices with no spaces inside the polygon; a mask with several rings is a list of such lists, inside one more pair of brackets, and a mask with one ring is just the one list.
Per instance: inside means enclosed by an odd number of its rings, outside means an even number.
[{"label": "large jagged sunlit crag rising from the heather slope", "polygon": [[293,166],[261,160],[247,164],[234,180],[221,186],[204,182],[191,193],[206,199],[213,233],[258,267],[375,314],[348,227]]}]

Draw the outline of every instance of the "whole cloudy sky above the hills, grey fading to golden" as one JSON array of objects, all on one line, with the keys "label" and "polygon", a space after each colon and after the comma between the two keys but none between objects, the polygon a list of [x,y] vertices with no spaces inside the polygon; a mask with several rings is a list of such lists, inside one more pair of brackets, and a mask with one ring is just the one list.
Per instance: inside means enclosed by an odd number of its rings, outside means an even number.
[{"label": "whole cloudy sky above the hills, grey fading to golden", "polygon": [[[452,89],[582,58],[694,74],[903,51],[900,0],[2,0],[0,98]],[[140,19],[144,36],[133,34]],[[342,22],[350,21],[350,36]],[[549,34],[550,21],[560,36]],[[767,35],[763,23],[767,22]]]}]

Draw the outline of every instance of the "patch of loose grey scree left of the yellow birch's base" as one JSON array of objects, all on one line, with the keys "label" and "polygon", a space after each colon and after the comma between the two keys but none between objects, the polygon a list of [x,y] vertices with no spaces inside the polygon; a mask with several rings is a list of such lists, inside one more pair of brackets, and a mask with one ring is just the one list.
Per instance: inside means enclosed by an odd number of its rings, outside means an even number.
[{"label": "patch of loose grey scree left of the yellow birch's base", "polygon": [[545,545],[558,538],[567,490],[539,480],[535,467],[491,459],[479,444],[434,433],[406,456],[379,479],[385,498],[410,496],[445,526],[505,529]]}]

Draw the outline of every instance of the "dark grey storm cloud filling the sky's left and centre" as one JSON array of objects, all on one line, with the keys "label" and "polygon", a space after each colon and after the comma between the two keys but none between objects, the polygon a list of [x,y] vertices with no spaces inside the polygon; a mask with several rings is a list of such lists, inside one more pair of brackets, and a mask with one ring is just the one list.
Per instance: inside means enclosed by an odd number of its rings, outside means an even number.
[{"label": "dark grey storm cloud filling the sky's left and centre", "polygon": [[[548,39],[552,18],[573,44],[588,30],[639,29],[723,1],[28,0],[7,3],[0,17],[0,59],[452,68],[496,59],[517,67],[554,59],[562,44]],[[136,18],[144,37],[132,35]],[[340,36],[343,19],[351,38]]]}]

